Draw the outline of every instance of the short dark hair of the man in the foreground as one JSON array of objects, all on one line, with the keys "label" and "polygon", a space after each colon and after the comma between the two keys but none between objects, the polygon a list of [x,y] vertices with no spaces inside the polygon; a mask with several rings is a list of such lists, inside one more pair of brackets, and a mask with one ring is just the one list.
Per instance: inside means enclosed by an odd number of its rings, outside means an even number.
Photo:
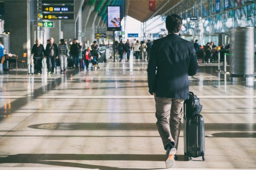
[{"label": "short dark hair of the man in the foreground", "polygon": [[177,14],[166,17],[165,26],[169,33],[178,33],[181,29],[182,19]]}]

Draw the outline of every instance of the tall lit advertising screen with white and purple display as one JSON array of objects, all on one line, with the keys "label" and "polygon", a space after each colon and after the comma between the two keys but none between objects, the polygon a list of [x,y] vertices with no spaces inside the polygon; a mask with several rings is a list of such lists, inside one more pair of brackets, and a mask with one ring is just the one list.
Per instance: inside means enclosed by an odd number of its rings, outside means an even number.
[{"label": "tall lit advertising screen with white and purple display", "polygon": [[108,6],[108,31],[121,31],[120,6]]}]

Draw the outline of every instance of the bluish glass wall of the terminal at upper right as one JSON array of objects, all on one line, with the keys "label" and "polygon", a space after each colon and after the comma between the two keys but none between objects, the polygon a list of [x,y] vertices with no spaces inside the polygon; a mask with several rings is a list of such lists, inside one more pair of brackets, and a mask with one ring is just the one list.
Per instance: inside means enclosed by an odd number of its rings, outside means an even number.
[{"label": "bluish glass wall of the terminal at upper right", "polygon": [[[256,27],[256,0],[182,0],[165,16],[172,13],[182,17],[181,35],[201,37],[202,43],[204,39],[208,39],[204,38],[205,36],[211,38],[218,33],[228,34],[232,27]],[[198,19],[190,20],[190,17],[198,17]],[[161,34],[160,29],[165,28],[163,25],[165,21],[162,20],[162,16],[154,19],[155,21],[151,19],[151,22],[154,22],[147,28],[148,33]],[[150,21],[146,23],[148,26]],[[215,42],[218,42],[218,36]]]}]

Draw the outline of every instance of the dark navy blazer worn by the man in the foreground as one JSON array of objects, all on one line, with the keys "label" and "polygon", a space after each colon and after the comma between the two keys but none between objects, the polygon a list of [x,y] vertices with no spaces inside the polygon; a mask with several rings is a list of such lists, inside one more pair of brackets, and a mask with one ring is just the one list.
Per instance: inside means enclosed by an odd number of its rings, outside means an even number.
[{"label": "dark navy blazer worn by the man in the foreground", "polygon": [[156,97],[189,99],[189,79],[199,70],[192,42],[168,34],[153,42],[148,61],[149,93]]}]

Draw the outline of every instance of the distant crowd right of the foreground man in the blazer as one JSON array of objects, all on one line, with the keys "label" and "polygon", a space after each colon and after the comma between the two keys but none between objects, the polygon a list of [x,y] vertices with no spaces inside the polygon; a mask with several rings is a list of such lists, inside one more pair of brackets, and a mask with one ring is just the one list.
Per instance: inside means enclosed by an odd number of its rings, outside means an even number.
[{"label": "distant crowd right of the foreground man in the blazer", "polygon": [[[225,47],[229,49],[229,44]],[[194,42],[194,49],[203,50],[203,63],[214,63],[218,62],[219,50],[224,49],[224,45],[216,46],[214,42],[207,42],[204,46],[199,45],[198,40]]]}]

